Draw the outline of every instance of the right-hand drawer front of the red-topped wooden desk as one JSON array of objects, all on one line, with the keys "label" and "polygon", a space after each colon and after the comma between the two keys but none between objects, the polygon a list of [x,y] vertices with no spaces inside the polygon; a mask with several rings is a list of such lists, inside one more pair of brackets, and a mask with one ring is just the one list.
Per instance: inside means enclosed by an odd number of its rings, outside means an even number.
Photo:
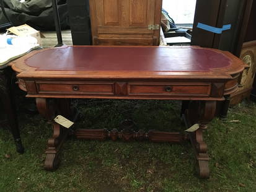
[{"label": "right-hand drawer front of the red-topped wooden desk", "polygon": [[193,95],[208,96],[211,85],[203,82],[184,84],[182,82],[131,82],[128,84],[129,95]]}]

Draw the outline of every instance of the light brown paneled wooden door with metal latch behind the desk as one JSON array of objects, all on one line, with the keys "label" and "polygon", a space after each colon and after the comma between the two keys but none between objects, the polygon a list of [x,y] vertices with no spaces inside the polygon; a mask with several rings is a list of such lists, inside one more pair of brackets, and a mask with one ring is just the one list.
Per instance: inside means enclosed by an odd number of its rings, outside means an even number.
[{"label": "light brown paneled wooden door with metal latch behind the desk", "polygon": [[94,45],[159,45],[162,0],[90,0]]}]

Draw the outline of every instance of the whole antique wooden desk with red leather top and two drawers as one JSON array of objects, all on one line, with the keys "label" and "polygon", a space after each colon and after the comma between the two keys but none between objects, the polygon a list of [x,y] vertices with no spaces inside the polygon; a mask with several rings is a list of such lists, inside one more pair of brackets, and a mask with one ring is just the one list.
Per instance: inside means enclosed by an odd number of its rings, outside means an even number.
[{"label": "whole antique wooden desk with red leather top and two drawers", "polygon": [[[143,130],[79,129],[77,137],[103,140],[148,139],[182,142],[190,138],[199,164],[200,177],[209,177],[208,154],[203,129],[214,118],[216,102],[237,90],[244,63],[226,51],[156,46],[64,46],[33,51],[12,63],[20,89],[35,97],[40,113],[53,120],[70,115],[68,98],[120,98],[183,100],[188,124],[200,128],[188,136]],[[48,98],[56,98],[51,102]],[[187,101],[187,102],[186,102]],[[45,168],[58,167],[59,152],[68,129],[53,123]]]}]

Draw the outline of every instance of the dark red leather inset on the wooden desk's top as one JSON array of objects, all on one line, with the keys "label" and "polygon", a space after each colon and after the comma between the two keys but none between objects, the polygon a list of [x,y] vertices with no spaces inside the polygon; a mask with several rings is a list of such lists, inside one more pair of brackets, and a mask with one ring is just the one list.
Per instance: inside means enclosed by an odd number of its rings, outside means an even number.
[{"label": "dark red leather inset on the wooden desk's top", "polygon": [[25,64],[40,71],[210,71],[231,59],[193,47],[66,46],[40,51]]}]

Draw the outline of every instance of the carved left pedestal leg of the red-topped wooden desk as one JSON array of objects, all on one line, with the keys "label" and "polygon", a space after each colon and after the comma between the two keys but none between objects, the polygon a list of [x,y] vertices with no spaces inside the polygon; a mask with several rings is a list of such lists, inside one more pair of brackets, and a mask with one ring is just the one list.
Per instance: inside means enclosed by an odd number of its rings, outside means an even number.
[{"label": "carved left pedestal leg of the red-topped wooden desk", "polygon": [[[37,98],[37,108],[41,115],[47,120],[53,120],[56,113],[66,118],[70,116],[69,100],[58,99],[51,103],[46,98]],[[63,128],[60,124],[53,122],[53,136],[48,139],[45,159],[45,170],[56,170],[60,165],[60,151],[64,140],[68,136],[69,129]]]}]

